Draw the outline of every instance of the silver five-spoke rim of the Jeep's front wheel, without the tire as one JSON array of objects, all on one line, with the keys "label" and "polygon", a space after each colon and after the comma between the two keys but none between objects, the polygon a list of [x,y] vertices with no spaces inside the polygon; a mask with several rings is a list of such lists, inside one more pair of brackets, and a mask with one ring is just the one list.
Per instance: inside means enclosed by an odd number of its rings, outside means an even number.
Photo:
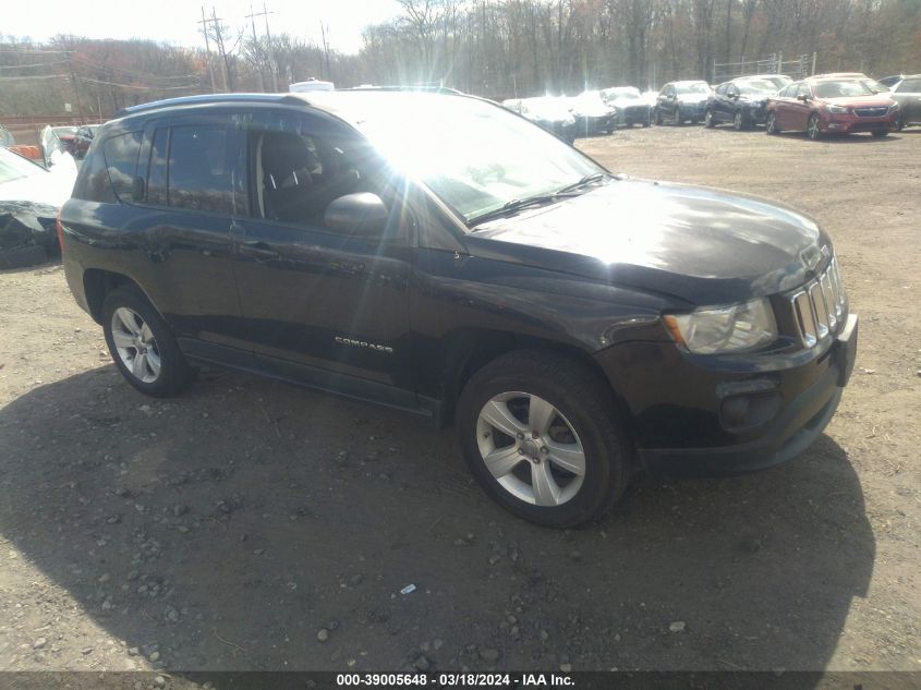
[{"label": "silver five-spoke rim of the Jeep's front wheel, without the tire", "polygon": [[489,473],[520,500],[559,506],[582,486],[582,441],[562,413],[538,396],[494,396],[480,411],[476,441]]}]

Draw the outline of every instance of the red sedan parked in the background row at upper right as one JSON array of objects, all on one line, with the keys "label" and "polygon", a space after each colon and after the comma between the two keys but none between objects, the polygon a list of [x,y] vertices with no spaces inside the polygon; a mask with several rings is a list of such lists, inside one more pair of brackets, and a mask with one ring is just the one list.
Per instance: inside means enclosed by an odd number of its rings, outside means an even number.
[{"label": "red sedan parked in the background row at upper right", "polygon": [[855,77],[813,76],[768,99],[767,133],[792,130],[816,140],[825,134],[870,132],[886,136],[898,121],[898,104]]}]

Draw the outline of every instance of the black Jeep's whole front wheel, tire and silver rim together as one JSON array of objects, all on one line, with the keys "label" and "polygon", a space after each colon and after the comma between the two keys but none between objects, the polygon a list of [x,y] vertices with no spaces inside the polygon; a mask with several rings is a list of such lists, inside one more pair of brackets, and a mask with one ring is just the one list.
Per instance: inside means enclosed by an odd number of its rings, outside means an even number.
[{"label": "black Jeep's whole front wheel, tire and silver rim together", "polygon": [[[534,404],[545,424],[532,415]],[[456,422],[471,473],[519,518],[573,528],[601,517],[623,494],[627,435],[610,391],[577,362],[536,351],[505,354],[466,384]],[[492,470],[484,460],[490,453],[497,453]],[[558,461],[582,474],[565,471]]]}]

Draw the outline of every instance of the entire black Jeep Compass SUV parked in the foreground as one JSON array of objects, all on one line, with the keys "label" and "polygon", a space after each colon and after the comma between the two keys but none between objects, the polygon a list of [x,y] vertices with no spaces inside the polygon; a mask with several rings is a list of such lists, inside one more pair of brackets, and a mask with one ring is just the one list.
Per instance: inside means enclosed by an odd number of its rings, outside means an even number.
[{"label": "entire black Jeep Compass SUV parked in the foreground", "polygon": [[142,392],[208,362],[453,421],[485,491],[546,525],[598,516],[635,468],[792,458],[856,352],[809,218],[611,175],[460,95],[131,108],[59,232]]}]

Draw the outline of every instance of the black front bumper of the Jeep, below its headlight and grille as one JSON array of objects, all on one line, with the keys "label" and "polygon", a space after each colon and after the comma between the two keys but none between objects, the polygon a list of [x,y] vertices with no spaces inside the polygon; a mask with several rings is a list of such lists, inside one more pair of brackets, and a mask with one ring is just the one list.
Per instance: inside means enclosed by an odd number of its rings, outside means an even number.
[{"label": "black front bumper of the Jeep, below its headlight and grille", "polygon": [[822,434],[853,370],[857,334],[852,314],[828,342],[749,373],[702,366],[672,343],[615,346],[599,364],[632,417],[646,469],[737,473],[791,460]]}]

